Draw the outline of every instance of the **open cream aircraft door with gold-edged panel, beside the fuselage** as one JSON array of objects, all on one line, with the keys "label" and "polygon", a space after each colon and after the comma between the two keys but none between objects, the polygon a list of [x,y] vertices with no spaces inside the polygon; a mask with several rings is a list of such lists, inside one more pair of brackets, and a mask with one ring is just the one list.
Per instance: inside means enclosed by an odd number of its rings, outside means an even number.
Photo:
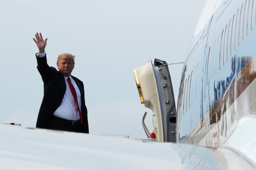
[{"label": "open cream aircraft door with gold-edged panel, beside the fuselage", "polygon": [[[140,95],[140,102],[153,112],[152,133],[144,123],[146,112],[142,119],[142,126],[148,136],[155,134],[157,141],[176,142],[176,107],[172,89],[172,81],[165,61],[152,61],[142,67],[134,69],[136,85]],[[153,135],[152,135],[153,134]]]}]

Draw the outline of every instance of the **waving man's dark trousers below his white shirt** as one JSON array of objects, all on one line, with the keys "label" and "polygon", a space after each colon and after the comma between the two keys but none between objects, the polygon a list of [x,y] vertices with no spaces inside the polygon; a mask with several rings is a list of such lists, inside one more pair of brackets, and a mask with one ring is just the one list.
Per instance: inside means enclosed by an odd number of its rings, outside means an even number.
[{"label": "waving man's dark trousers below his white shirt", "polygon": [[80,121],[77,121],[72,125],[72,121],[68,121],[66,119],[62,119],[55,116],[52,116],[48,120],[47,128],[54,130],[65,130],[70,132],[82,132],[82,125]]}]

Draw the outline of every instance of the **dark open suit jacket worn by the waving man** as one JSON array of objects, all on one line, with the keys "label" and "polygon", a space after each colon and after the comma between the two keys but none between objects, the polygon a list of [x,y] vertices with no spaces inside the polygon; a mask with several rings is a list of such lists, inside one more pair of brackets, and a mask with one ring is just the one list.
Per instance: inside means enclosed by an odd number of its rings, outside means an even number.
[{"label": "dark open suit jacket worn by the waving man", "polygon": [[[47,128],[48,120],[62,102],[66,92],[66,82],[60,71],[57,71],[54,67],[49,67],[46,56],[36,57],[36,60],[37,69],[44,82],[44,97],[38,113],[36,127]],[[74,76],[72,77],[81,93],[81,114],[83,119],[82,132],[89,133],[87,108],[84,100],[84,84],[78,78]]]}]

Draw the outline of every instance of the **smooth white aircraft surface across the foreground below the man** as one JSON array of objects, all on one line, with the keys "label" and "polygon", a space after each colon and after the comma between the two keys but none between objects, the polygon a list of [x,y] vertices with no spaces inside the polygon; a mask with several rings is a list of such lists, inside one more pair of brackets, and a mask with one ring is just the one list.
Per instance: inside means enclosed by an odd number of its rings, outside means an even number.
[{"label": "smooth white aircraft surface across the foreground below the man", "polygon": [[[0,124],[3,169],[252,169],[230,148]],[[1,169],[2,169],[1,168]]]}]

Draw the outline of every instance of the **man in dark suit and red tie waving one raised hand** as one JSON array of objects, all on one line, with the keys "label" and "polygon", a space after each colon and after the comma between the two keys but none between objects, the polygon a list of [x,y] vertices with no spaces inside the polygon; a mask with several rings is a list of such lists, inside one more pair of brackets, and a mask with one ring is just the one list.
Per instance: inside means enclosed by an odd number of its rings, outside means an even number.
[{"label": "man in dark suit and red tie waving one raised hand", "polygon": [[57,71],[47,64],[44,51],[47,38],[43,40],[42,34],[36,33],[33,40],[38,47],[37,69],[44,82],[44,97],[36,127],[89,133],[84,84],[71,75],[75,56],[70,53],[60,54]]}]

